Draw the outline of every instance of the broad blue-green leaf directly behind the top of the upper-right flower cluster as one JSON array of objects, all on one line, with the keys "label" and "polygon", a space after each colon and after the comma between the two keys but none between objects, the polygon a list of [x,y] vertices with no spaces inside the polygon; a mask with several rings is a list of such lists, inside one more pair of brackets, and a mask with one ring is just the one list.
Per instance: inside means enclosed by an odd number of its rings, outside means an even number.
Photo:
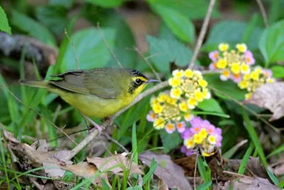
[{"label": "broad blue-green leaf directly behind the top of the upper-right flower cluster", "polygon": [[246,44],[249,50],[258,48],[258,40],[261,36],[262,29],[259,27],[249,28],[251,32],[246,33],[247,23],[240,21],[222,21],[214,25],[209,32],[209,38],[203,46],[203,50],[209,52],[216,50],[219,43],[229,43],[231,47],[236,43],[243,43],[244,38],[248,39]]}]

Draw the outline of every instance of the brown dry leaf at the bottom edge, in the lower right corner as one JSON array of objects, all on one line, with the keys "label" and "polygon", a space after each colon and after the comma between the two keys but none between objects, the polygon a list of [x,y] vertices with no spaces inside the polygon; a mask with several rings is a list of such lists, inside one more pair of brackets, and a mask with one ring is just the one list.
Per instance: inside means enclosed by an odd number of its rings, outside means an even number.
[{"label": "brown dry leaf at the bottom edge, in the lower right corner", "polygon": [[263,179],[261,177],[240,177],[234,181],[227,181],[221,189],[249,189],[249,190],[276,190],[279,189],[278,186],[271,184],[268,179]]}]

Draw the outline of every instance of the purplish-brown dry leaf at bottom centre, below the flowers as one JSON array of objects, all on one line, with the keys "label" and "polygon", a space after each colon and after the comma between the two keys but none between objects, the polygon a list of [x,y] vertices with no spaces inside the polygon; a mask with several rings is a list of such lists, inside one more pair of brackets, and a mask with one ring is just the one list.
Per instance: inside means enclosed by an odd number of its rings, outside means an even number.
[{"label": "purplish-brown dry leaf at bottom centre, below the flowers", "polygon": [[139,155],[143,164],[150,166],[151,160],[154,158],[158,162],[158,167],[154,174],[162,179],[169,188],[178,188],[190,190],[192,187],[185,178],[185,172],[178,164],[175,164],[168,155],[156,155],[148,151]]}]

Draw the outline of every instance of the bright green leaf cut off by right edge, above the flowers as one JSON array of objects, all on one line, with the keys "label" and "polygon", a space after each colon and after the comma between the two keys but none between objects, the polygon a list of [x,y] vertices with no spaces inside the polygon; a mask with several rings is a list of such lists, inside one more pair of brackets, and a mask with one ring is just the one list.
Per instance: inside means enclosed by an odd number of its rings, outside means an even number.
[{"label": "bright green leaf cut off by right edge, above the flowers", "polygon": [[266,67],[271,62],[284,60],[284,20],[273,23],[263,31],[259,49],[266,60]]}]

